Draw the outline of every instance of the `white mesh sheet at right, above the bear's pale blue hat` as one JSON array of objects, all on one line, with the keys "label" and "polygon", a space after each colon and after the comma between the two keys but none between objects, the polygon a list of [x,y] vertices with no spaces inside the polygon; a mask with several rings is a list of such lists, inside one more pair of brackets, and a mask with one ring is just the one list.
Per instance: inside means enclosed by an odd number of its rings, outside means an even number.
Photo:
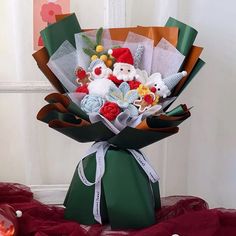
[{"label": "white mesh sheet at right, above the bear's pale blue hat", "polygon": [[152,74],[161,73],[165,78],[179,71],[185,56],[182,55],[171,43],[162,38],[153,51]]}]

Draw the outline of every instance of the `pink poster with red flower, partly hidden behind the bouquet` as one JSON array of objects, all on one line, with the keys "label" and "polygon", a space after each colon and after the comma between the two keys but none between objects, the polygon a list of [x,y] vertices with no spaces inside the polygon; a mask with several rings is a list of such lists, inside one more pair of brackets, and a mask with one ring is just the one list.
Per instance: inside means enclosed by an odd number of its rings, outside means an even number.
[{"label": "pink poster with red flower, partly hidden behind the bouquet", "polygon": [[43,46],[40,31],[56,22],[56,15],[70,12],[70,0],[34,0],[34,50]]}]

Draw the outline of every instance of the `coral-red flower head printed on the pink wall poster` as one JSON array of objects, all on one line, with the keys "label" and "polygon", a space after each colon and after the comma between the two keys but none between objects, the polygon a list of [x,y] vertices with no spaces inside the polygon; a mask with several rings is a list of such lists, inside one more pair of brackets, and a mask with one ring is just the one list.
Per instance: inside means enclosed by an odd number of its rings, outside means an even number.
[{"label": "coral-red flower head printed on the pink wall poster", "polygon": [[62,14],[61,6],[53,2],[43,4],[41,7],[40,15],[42,16],[43,21],[52,24],[56,22],[55,15]]}]

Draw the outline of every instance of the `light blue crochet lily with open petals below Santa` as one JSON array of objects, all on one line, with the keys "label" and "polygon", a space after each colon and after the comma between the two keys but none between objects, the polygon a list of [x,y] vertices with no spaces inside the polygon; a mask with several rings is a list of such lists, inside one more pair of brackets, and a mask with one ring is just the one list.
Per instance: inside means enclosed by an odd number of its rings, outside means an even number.
[{"label": "light blue crochet lily with open petals below Santa", "polygon": [[132,104],[138,97],[138,92],[130,90],[127,82],[121,83],[119,87],[110,87],[106,95],[108,101],[116,103],[122,109],[128,109],[131,116],[138,115],[137,108]]}]

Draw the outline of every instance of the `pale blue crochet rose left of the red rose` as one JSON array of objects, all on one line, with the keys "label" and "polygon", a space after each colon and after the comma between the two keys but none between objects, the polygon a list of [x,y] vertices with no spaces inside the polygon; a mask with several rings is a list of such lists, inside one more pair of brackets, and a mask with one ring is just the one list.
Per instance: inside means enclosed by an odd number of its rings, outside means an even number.
[{"label": "pale blue crochet rose left of the red rose", "polygon": [[81,109],[87,113],[98,112],[103,104],[103,98],[94,95],[86,95],[81,101]]}]

